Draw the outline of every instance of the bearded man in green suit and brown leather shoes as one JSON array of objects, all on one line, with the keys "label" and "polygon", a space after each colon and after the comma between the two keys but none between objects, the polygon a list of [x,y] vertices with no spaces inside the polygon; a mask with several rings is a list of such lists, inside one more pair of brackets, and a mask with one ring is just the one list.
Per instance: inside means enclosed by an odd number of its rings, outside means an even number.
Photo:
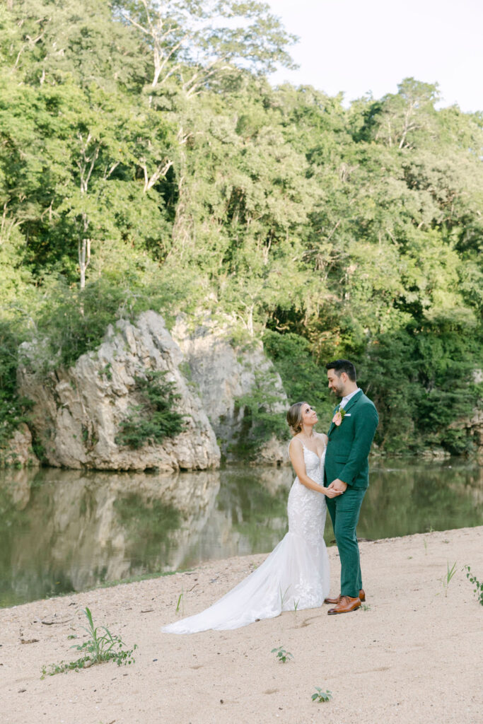
[{"label": "bearded man in green suit and brown leather shoes", "polygon": [[335,604],[328,611],[332,615],[355,611],[366,599],[356,526],[369,486],[367,458],[379,417],[374,403],[357,386],[352,362],[336,360],[325,367],[329,390],[342,397],[329,427],[324,468],[325,486],[340,492],[336,497],[327,497],[340,555],[340,596],[325,599],[325,603]]}]

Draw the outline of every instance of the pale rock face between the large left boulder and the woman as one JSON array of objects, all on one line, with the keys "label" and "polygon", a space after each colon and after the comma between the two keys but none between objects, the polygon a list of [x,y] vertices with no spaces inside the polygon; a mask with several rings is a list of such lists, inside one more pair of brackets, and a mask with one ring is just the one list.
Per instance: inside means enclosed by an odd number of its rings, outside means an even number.
[{"label": "pale rock face between the large left boulder and the woman", "polygon": [[[228,324],[203,319],[192,331],[179,316],[172,336],[189,365],[192,382],[203,401],[227,460],[234,459],[230,445],[243,429],[245,409],[240,397],[256,393],[266,399],[266,411],[280,414],[288,408],[282,379],[264,355],[261,342],[251,348],[234,345],[228,339]],[[287,462],[287,443],[272,436],[257,457],[263,463]]]}]

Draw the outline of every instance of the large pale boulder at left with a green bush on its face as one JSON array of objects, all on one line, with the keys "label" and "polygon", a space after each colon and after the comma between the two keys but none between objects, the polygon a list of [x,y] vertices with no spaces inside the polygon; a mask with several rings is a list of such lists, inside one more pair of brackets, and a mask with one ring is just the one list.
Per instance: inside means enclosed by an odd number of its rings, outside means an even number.
[{"label": "large pale boulder at left with a green bush on its face", "polygon": [[[35,370],[35,349],[22,345],[20,393],[34,401],[33,429],[51,466],[114,470],[173,471],[219,465],[220,452],[201,401],[180,370],[183,356],[163,318],[147,311],[136,324],[109,326],[100,348],[70,369],[48,376]],[[130,407],[138,404],[135,376],[165,371],[180,395],[177,411],[185,430],[161,445],[138,450],[114,442]]]}]

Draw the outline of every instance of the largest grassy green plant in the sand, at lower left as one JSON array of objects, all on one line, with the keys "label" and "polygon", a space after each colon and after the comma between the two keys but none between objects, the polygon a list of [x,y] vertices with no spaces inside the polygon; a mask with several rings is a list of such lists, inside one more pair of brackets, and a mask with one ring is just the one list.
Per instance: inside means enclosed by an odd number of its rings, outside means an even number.
[{"label": "largest grassy green plant in the sand, at lower left", "polygon": [[[75,646],[71,647],[83,652],[83,656],[75,661],[61,661],[59,664],[52,664],[50,669],[43,666],[41,678],[70,670],[78,671],[94,664],[101,664],[104,661],[115,661],[118,666],[134,662],[133,652],[138,648],[137,644],[134,644],[132,649],[126,649],[126,644],[121,637],[113,636],[109,628],[94,626],[91,610],[88,607],[85,607],[83,613],[85,613],[88,620],[88,626],[83,626],[83,629],[87,631],[89,639],[84,641],[83,644],[75,644]],[[104,633],[101,633],[101,631]]]}]

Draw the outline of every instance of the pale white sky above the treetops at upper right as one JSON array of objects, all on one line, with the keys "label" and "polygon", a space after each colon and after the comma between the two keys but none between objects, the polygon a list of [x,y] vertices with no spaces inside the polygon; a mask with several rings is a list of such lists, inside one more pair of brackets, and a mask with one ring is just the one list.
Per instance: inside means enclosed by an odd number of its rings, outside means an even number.
[{"label": "pale white sky above the treetops at upper right", "polygon": [[397,93],[405,77],[439,83],[439,106],[483,111],[483,0],[265,0],[298,35],[272,84],[314,85],[344,104]]}]

